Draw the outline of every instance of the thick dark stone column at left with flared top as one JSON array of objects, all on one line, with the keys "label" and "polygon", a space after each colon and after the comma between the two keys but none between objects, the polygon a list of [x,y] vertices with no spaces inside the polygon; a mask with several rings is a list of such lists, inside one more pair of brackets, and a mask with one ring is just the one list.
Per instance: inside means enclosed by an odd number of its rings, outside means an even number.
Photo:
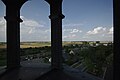
[{"label": "thick dark stone column at left with flared top", "polygon": [[20,67],[20,8],[27,0],[2,0],[6,5],[7,69]]}]

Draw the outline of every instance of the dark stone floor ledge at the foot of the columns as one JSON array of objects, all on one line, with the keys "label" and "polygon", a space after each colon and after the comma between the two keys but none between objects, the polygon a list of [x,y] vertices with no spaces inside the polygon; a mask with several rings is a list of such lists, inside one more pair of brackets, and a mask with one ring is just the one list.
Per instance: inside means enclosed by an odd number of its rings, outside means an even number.
[{"label": "dark stone floor ledge at the foot of the columns", "polygon": [[1,70],[0,80],[102,80],[66,65],[63,71],[51,70],[50,64],[39,63],[39,60],[24,61],[21,66],[9,72]]}]

